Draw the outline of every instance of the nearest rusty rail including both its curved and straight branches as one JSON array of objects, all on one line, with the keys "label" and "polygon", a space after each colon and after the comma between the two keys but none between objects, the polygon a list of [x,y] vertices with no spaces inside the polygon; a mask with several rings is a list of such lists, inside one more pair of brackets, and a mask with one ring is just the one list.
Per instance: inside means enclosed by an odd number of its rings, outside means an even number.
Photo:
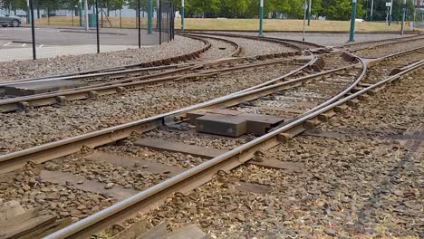
[{"label": "nearest rusty rail including both its curved and straight branches", "polygon": [[167,196],[176,192],[187,192],[188,190],[205,184],[207,181],[211,180],[218,171],[229,171],[232,168],[244,164],[246,161],[254,157],[256,151],[266,150],[286,141],[294,135],[304,131],[308,125],[315,124],[315,122],[320,119],[327,119],[326,117],[329,115],[331,116],[335,109],[345,105],[350,105],[350,101],[359,99],[361,95],[366,94],[368,91],[379,88],[390,81],[398,80],[403,75],[424,65],[424,62],[422,61],[420,63],[414,63],[412,67],[406,68],[407,70],[404,72],[390,76],[389,78],[372,84],[361,91],[344,96],[347,92],[350,92],[365,75],[367,66],[361,61],[361,59],[360,62],[363,66],[363,71],[357,80],[354,81],[345,91],[340,92],[340,94],[315,107],[313,110],[309,110],[303,115],[284,123],[284,125],[265,134],[263,137],[254,139],[240,147],[234,148],[216,158],[212,158],[207,162],[198,165],[197,167],[192,167],[178,176],[171,177],[135,196],[130,196],[111,207],[101,210],[94,215],[90,215],[73,225],[67,226],[56,233],[50,234],[45,238],[80,238],[83,236],[89,236],[92,233],[101,231],[101,229],[104,229],[108,225],[120,222],[124,218],[128,218],[131,215],[137,215],[140,212],[145,212],[146,210],[149,210],[151,206],[156,206],[163,202]]}]

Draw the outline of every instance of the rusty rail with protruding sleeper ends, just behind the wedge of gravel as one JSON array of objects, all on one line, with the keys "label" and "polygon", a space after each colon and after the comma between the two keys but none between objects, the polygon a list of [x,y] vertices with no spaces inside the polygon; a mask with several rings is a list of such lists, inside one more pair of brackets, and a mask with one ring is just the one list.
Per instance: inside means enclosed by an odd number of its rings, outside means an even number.
[{"label": "rusty rail with protruding sleeper ends, just behind the wedge of gravel", "polygon": [[[66,105],[67,101],[71,100],[87,100],[95,99],[102,95],[110,95],[116,93],[123,93],[124,91],[136,91],[140,88],[145,88],[151,84],[175,82],[175,81],[190,81],[199,77],[207,77],[214,75],[224,75],[232,72],[240,72],[247,69],[255,69],[267,65],[281,65],[281,64],[296,64],[303,65],[298,71],[304,67],[311,66],[316,61],[311,57],[310,60],[270,60],[265,62],[252,62],[245,64],[229,65],[230,62],[239,62],[240,60],[226,60],[224,67],[218,67],[217,70],[201,70],[205,64],[190,66],[169,72],[159,72],[148,76],[132,76],[123,80],[111,81],[108,83],[94,84],[77,89],[54,91],[48,93],[35,94],[31,96],[15,97],[12,99],[0,100],[0,112],[10,112],[14,110],[29,110],[34,107],[47,106],[52,104]],[[219,65],[218,65],[219,66]],[[213,68],[213,66],[212,66]],[[182,72],[182,73],[179,73]],[[294,72],[293,72],[294,73]]]}]

